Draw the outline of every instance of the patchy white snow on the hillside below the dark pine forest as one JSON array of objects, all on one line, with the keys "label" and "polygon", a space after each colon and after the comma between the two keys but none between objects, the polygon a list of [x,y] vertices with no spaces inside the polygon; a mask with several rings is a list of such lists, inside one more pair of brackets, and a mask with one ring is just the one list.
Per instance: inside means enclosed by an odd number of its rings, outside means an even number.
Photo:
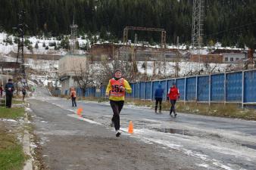
[{"label": "patchy white snow on the hillside below the dark pine forest", "polygon": [[[10,40],[12,43],[8,43],[7,40]],[[65,55],[67,54],[67,50],[65,49],[58,49],[55,50],[54,46],[51,46],[51,43],[56,43],[59,45],[61,41],[57,40],[56,38],[44,39],[44,38],[36,38],[30,37],[28,40],[31,42],[32,49],[28,49],[27,47],[24,48],[24,53],[27,54],[55,54],[55,55]],[[88,45],[88,39],[79,38],[78,42],[81,46]],[[37,44],[37,45],[36,45]],[[38,46],[38,47],[36,47]],[[45,47],[48,49],[45,49]],[[169,45],[167,48],[176,48],[174,45]],[[180,45],[180,49],[185,50],[188,48],[186,45]],[[191,48],[191,47],[189,47]],[[219,43],[217,43],[214,48],[222,48]],[[8,54],[11,52],[17,51],[17,44],[14,43],[14,36],[8,36],[6,33],[0,33],[0,60],[5,61],[16,61],[16,58],[9,57]],[[195,53],[196,51],[189,50],[191,54]],[[209,48],[204,47],[201,49],[201,54],[208,54]],[[79,54],[86,54],[85,51],[78,51]],[[137,69],[139,73],[144,74],[145,68],[143,67],[144,62],[137,62]],[[43,85],[48,85],[48,82],[52,82],[55,84],[56,73],[58,72],[58,60],[34,60],[34,59],[25,59],[25,64],[28,68],[32,70],[36,70],[37,73],[31,73],[30,79],[36,79],[37,82],[42,82]],[[93,63],[92,63],[93,64]],[[95,66],[98,67],[98,70],[101,70],[101,64],[96,64]],[[201,74],[208,74],[208,73],[220,73],[229,70],[233,70],[236,65],[234,64],[226,64],[226,63],[195,63],[195,62],[188,62],[188,61],[180,61],[179,63],[179,76],[189,76],[192,73],[199,73],[201,70]],[[147,62],[147,70],[146,73],[148,76],[152,76],[154,73],[158,74],[161,73],[164,76],[170,77],[174,76],[175,74],[175,62],[167,62],[166,66],[164,66],[163,62],[156,62],[148,61]]]}]

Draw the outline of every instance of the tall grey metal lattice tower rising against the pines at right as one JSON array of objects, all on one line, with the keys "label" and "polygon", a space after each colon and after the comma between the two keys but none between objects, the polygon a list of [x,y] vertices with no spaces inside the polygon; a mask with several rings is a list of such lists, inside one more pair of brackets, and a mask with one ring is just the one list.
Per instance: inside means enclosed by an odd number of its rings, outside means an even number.
[{"label": "tall grey metal lattice tower rising against the pines at right", "polygon": [[204,0],[193,0],[192,48],[201,48],[204,25]]}]

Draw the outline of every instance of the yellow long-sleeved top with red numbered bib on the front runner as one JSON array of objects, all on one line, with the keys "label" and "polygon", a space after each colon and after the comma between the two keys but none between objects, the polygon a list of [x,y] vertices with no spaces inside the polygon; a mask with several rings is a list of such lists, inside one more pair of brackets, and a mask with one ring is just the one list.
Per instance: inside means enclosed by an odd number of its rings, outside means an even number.
[{"label": "yellow long-sleeved top with red numbered bib on the front runner", "polygon": [[[122,91],[120,88],[123,86],[125,88],[125,91]],[[109,95],[109,100],[124,100],[125,92],[132,93],[132,88],[129,85],[129,82],[126,81],[126,79],[110,79],[108,82],[108,86],[106,89],[106,94]]]}]

